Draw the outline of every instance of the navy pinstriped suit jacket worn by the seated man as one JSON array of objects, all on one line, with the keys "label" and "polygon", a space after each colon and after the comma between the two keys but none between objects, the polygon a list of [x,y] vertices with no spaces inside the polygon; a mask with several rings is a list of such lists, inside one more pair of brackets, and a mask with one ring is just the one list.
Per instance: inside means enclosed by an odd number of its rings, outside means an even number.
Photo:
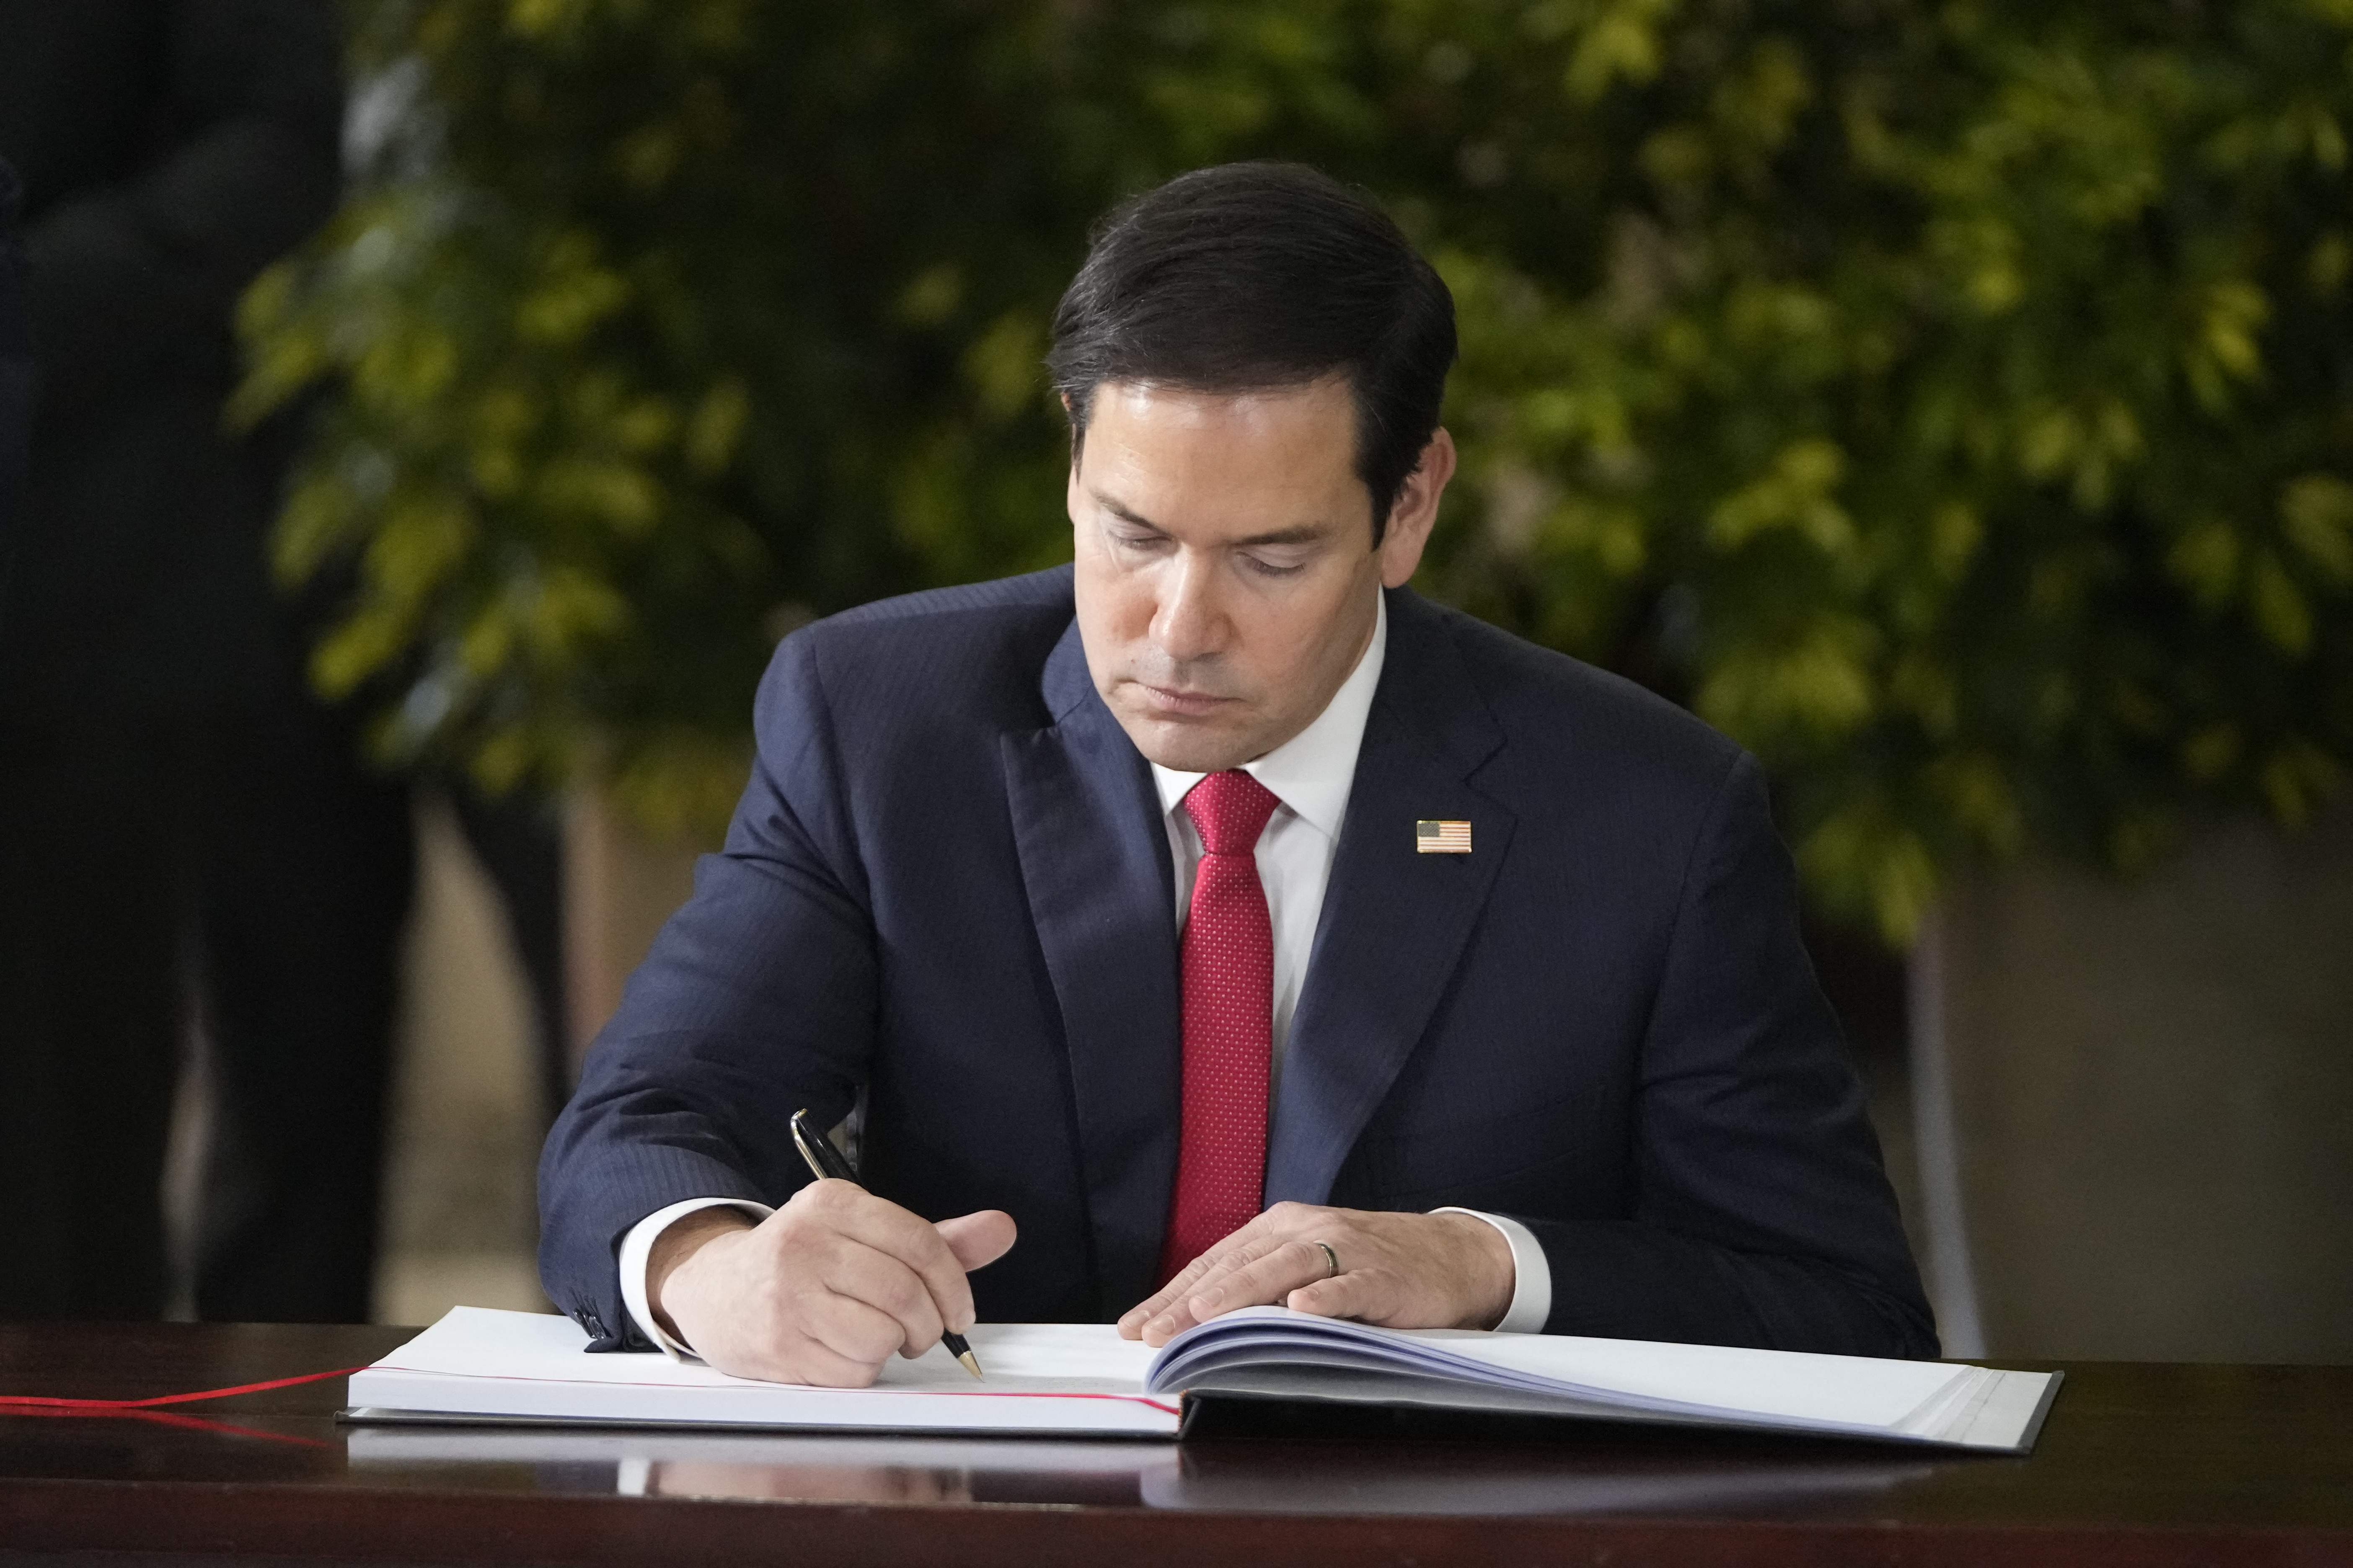
[{"label": "navy pinstriped suit jacket worn by the seated man", "polygon": [[[614,1251],[689,1197],[781,1204],[786,1121],[866,1091],[861,1180],[1005,1208],[986,1321],[1155,1284],[1176,1173],[1174,872],[1087,677],[1068,567],[784,642],[727,846],[548,1135],[541,1276],[642,1345]],[[1468,856],[1414,851],[1419,818]],[[1642,689],[1388,595],[1388,658],[1292,1020],[1266,1201],[1506,1213],[1551,1333],[1937,1352],[1864,1095],[1737,745]]]}]

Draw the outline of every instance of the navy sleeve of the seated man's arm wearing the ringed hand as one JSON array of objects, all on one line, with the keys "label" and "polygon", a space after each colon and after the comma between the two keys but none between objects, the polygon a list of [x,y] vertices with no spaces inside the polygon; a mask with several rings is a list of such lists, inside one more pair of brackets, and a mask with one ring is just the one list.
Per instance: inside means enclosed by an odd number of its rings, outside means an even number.
[{"label": "navy sleeve of the seated man's arm wearing the ringed hand", "polygon": [[1642,1041],[1626,1220],[1525,1220],[1546,1333],[1934,1356],[1864,1091],[1798,936],[1765,778],[1699,835]]}]

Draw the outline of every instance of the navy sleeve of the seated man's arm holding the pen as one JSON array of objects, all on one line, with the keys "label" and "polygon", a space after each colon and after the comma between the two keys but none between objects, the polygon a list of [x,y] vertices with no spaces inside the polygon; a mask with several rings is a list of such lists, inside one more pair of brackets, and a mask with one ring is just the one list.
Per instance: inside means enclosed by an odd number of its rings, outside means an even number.
[{"label": "navy sleeve of the seated man's arm holding the pen", "polygon": [[779,1135],[840,1121],[875,1030],[875,938],[807,632],[760,684],[760,752],[539,1161],[539,1274],[593,1349],[645,1349],[621,1300],[628,1229],[682,1199],[781,1204],[809,1175]]}]

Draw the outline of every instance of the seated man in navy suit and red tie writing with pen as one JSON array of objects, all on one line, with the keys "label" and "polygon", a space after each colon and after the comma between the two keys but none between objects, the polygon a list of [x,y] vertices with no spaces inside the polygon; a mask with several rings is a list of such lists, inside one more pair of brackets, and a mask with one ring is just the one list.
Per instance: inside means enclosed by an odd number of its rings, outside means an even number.
[{"label": "seated man in navy suit and red tie writing with pen", "polygon": [[1287,1302],[1934,1354],[1755,762],[1405,588],[1452,360],[1308,169],[1106,223],[1049,355],[1073,567],[784,642],[548,1138],[598,1347],[864,1385],[974,1316]]}]

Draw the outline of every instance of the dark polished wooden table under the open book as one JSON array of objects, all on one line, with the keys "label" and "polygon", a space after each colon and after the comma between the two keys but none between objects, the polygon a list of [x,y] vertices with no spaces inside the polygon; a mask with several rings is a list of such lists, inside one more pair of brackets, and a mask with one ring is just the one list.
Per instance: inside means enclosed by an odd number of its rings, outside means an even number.
[{"label": "dark polished wooden table under the open book", "polygon": [[[0,1394],[372,1361],[398,1328],[0,1328]],[[0,1563],[2353,1563],[2353,1368],[2068,1366],[2033,1458],[1628,1427],[1040,1443],[344,1427],[315,1382],[0,1415]]]}]

